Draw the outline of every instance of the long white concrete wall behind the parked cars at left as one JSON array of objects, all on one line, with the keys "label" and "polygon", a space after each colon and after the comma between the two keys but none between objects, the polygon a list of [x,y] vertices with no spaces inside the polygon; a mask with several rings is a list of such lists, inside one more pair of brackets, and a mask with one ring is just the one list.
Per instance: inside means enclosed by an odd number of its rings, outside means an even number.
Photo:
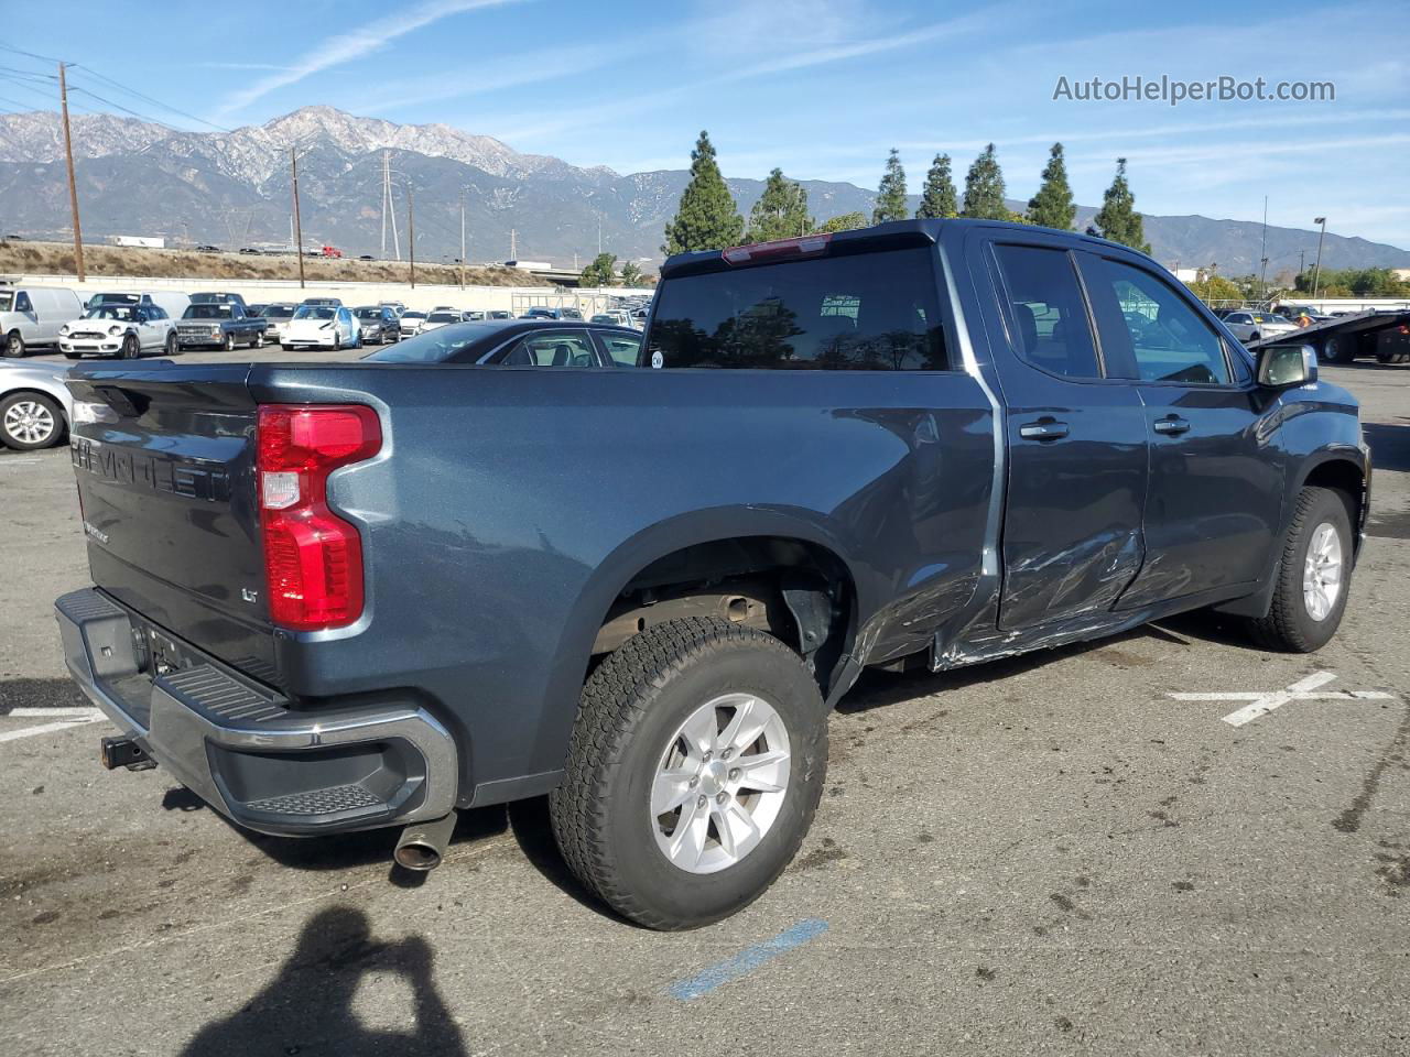
[{"label": "long white concrete wall behind the parked cars at left", "polygon": [[654,290],[613,286],[608,290],[580,289],[564,290],[556,286],[427,286],[416,283],[351,283],[351,282],[309,282],[300,289],[298,282],[283,279],[144,279],[141,276],[90,276],[78,282],[72,275],[18,275],[7,276],[13,285],[68,286],[87,300],[103,290],[231,290],[251,303],[293,302],[305,297],[338,297],[348,307],[376,304],[378,302],[402,302],[407,309],[429,310],[440,304],[453,309],[508,309],[522,311],[532,304],[551,309],[575,307],[584,316],[608,307],[609,297],[643,295],[650,297]]}]

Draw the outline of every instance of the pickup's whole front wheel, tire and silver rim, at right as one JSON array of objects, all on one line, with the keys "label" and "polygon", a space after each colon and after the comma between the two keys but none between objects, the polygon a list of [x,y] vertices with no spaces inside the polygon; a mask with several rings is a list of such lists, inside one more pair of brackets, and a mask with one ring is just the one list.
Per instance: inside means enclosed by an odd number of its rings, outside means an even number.
[{"label": "pickup's whole front wheel, tire and silver rim, at right", "polygon": [[1310,654],[1337,634],[1351,588],[1351,516],[1340,492],[1304,488],[1277,562],[1273,605],[1251,622],[1258,643]]}]

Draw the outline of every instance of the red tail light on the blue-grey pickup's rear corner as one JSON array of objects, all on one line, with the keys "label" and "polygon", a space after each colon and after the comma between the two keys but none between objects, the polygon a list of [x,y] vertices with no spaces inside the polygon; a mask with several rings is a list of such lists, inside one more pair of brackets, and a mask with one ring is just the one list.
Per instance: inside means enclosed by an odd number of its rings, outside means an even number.
[{"label": "red tail light on the blue-grey pickup's rear corner", "polygon": [[293,631],[362,616],[362,540],[329,509],[329,475],[382,448],[361,404],[261,404],[255,431],[269,617]]}]

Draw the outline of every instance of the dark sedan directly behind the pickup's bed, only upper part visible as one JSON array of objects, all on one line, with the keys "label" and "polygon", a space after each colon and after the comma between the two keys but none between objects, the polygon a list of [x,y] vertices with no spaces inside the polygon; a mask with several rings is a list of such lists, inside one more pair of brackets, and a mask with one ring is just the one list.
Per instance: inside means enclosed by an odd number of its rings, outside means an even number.
[{"label": "dark sedan directly behind the pickup's bed, only upper part visible", "polygon": [[376,364],[636,366],[642,333],[560,320],[451,323],[362,357]]}]

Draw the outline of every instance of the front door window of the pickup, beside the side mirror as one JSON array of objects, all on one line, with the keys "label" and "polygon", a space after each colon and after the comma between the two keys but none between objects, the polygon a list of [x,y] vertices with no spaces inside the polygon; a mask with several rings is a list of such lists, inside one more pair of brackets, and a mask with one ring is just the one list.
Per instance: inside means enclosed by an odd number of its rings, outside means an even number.
[{"label": "front door window of the pickup, beside the side mirror", "polygon": [[1224,342],[1180,295],[1149,272],[1110,258],[1100,258],[1094,271],[1094,282],[1115,296],[1125,321],[1125,334],[1111,337],[1129,341],[1142,382],[1230,382]]}]

